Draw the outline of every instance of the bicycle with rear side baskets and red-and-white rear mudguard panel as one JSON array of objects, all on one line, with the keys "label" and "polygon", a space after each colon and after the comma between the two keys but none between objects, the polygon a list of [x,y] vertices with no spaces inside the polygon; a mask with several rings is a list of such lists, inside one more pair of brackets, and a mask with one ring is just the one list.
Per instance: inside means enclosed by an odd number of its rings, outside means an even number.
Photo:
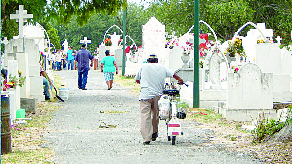
[{"label": "bicycle with rear side baskets and red-and-white rear mudguard panel", "polygon": [[[189,86],[185,83],[183,84]],[[175,100],[176,95],[179,95],[180,88],[181,85],[179,85],[179,83],[165,83],[164,95],[162,95],[158,101],[159,118],[166,122],[167,140],[170,141],[172,145],[176,144],[176,136],[183,134],[179,119],[186,118],[188,107],[188,103]]]}]

